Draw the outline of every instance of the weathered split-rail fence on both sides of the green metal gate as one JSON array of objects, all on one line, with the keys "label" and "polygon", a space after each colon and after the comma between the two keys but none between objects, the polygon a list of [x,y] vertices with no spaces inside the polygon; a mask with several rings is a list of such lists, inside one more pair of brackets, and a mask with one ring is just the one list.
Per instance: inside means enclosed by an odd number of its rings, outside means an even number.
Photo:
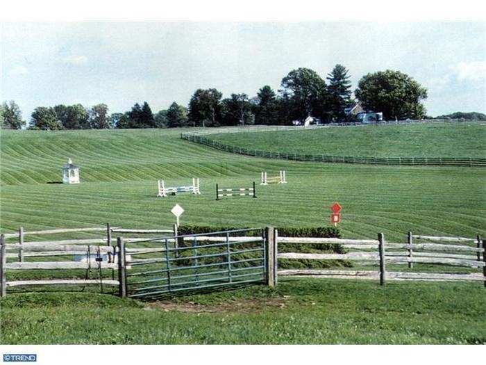
[{"label": "weathered split-rail fence on both sides of the green metal gate", "polygon": [[[100,284],[100,280],[90,279],[38,279],[38,280],[7,280],[7,270],[70,270],[70,269],[111,269],[118,271],[118,279],[103,280],[106,285],[118,285],[119,295],[124,296],[126,270],[132,265],[144,263],[159,263],[165,258],[133,259],[131,255],[152,254],[165,252],[163,245],[160,247],[130,247],[126,248],[126,242],[151,242],[162,243],[167,239],[170,241],[207,241],[208,243],[220,243],[230,241],[232,243],[253,242],[261,239],[256,236],[192,236],[179,238],[112,238],[112,233],[127,234],[167,234],[176,232],[171,229],[121,229],[107,227],[92,227],[81,229],[86,231],[106,230],[106,238],[85,238],[58,241],[24,241],[25,234],[43,234],[80,232],[78,229],[53,229],[46,231],[24,232],[19,229],[19,242],[6,243],[6,235],[0,236],[0,295],[6,295],[7,287],[24,285],[64,285],[64,284]],[[267,232],[268,231],[268,232]],[[268,240],[274,242],[271,250],[267,254],[267,267],[274,274],[269,276],[268,282],[272,285],[277,282],[278,275],[297,276],[297,277],[328,277],[328,278],[364,278],[379,279],[380,284],[384,285],[386,280],[474,280],[483,281],[486,286],[486,243],[478,235],[476,238],[451,237],[451,236],[426,236],[412,234],[408,232],[406,243],[388,243],[383,234],[378,234],[377,239],[351,239],[351,238],[315,238],[315,237],[280,237],[276,229],[266,231]],[[47,233],[46,233],[47,232]],[[22,237],[22,239],[20,239]],[[292,244],[299,243],[305,245],[330,244],[340,245],[344,250],[351,250],[343,253],[310,253],[310,252],[278,252],[278,243]],[[174,245],[176,242],[174,242]],[[20,254],[22,250],[22,254]],[[358,250],[355,252],[353,250]],[[12,252],[18,251],[18,252]],[[101,261],[95,255],[108,254],[108,261]],[[65,257],[67,255],[85,256],[83,261],[26,261],[31,257]],[[126,260],[125,260],[125,255]],[[17,262],[10,262],[7,259],[16,259]],[[362,265],[379,266],[376,271],[370,270],[277,270],[278,259],[296,260],[346,260],[360,262]],[[129,266],[124,263],[129,262]],[[387,271],[387,264],[408,265],[413,267],[413,263],[428,263],[447,266],[460,266],[465,268],[479,268],[483,273],[401,273]],[[267,272],[270,274],[270,271]]]}]

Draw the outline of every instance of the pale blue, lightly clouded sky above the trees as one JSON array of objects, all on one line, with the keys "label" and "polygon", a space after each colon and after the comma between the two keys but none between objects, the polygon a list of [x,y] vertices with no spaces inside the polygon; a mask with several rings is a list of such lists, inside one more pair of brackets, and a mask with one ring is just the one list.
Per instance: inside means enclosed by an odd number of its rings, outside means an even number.
[{"label": "pale blue, lightly clouded sky above the trees", "polygon": [[197,88],[250,97],[298,67],[340,63],[353,90],[399,70],[428,89],[428,115],[486,113],[486,22],[77,22],[0,25],[0,100],[37,106],[187,105]]}]

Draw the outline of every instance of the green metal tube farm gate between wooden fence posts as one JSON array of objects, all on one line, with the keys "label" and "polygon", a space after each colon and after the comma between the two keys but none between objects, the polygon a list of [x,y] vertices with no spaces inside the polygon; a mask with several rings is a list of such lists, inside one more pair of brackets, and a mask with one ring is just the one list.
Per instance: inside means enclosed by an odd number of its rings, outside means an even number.
[{"label": "green metal tube farm gate between wooden fence posts", "polygon": [[151,299],[268,283],[266,236],[265,229],[252,228],[132,242],[121,238],[121,295]]}]

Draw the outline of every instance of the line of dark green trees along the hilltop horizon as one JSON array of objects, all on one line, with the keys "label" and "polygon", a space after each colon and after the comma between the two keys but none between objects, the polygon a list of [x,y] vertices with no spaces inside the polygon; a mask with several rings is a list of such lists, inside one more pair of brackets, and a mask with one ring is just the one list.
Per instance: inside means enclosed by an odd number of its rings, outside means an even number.
[{"label": "line of dark green trees along the hilltop horizon", "polygon": [[223,94],[215,88],[198,89],[186,106],[173,102],[169,108],[153,113],[149,104],[135,104],[125,113],[108,113],[106,104],[85,108],[39,106],[28,126],[15,102],[0,106],[1,127],[21,129],[108,129],[219,127],[249,124],[292,124],[312,116],[323,123],[352,121],[346,107],[360,102],[364,110],[383,112],[385,120],[422,119],[426,110],[421,103],[427,90],[407,74],[386,70],[367,74],[351,97],[349,70],[336,65],[323,79],[308,68],[292,70],[278,91],[262,86],[254,97]]}]

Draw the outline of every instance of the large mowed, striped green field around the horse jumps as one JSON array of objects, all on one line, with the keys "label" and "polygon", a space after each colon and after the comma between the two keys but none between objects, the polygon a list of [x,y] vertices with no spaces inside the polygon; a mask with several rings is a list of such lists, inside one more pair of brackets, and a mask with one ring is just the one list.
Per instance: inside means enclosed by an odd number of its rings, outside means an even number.
[{"label": "large mowed, striped green field around the horse jumps", "polygon": [[[461,126],[462,127],[462,126]],[[387,128],[387,127],[386,127]],[[421,234],[476,235],[485,227],[485,169],[362,166],[273,161],[190,143],[179,131],[2,131],[2,232],[90,227],[171,227],[182,222],[236,226],[327,225],[330,204],[343,206],[345,237],[389,239]],[[60,181],[67,157],[82,183]],[[289,184],[257,187],[258,199],[217,202],[215,184],[250,186],[260,172],[287,170]],[[157,198],[157,179],[186,185],[201,178],[200,196]]]}]

